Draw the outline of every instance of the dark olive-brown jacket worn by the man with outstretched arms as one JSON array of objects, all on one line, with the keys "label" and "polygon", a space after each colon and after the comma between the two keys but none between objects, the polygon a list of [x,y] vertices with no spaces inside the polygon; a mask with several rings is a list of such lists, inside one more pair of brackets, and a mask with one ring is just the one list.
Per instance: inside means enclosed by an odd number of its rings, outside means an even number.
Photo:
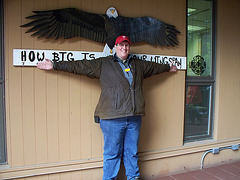
[{"label": "dark olive-brown jacket worn by the man with outstretched arms", "polygon": [[130,85],[123,69],[113,56],[95,60],[61,61],[55,70],[67,71],[100,80],[101,95],[94,115],[100,119],[113,119],[144,115],[143,79],[169,71],[168,64],[130,59],[133,82]]}]

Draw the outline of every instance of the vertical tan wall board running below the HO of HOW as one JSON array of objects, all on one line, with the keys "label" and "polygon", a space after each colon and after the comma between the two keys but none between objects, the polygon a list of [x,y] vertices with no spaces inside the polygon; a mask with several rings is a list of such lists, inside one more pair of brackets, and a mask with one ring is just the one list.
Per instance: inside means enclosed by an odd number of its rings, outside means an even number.
[{"label": "vertical tan wall board running below the HO of HOW", "polygon": [[[34,4],[30,1],[22,2],[21,14],[26,16],[28,11],[33,9]],[[22,16],[21,22],[24,21]],[[28,48],[33,45],[33,40],[24,41],[27,34],[21,32],[21,45],[23,48]],[[21,75],[21,89],[22,89],[22,117],[23,117],[23,146],[25,165],[36,163],[36,121],[35,121],[35,74],[33,68],[26,68]],[[15,149],[16,150],[16,149]]]}]

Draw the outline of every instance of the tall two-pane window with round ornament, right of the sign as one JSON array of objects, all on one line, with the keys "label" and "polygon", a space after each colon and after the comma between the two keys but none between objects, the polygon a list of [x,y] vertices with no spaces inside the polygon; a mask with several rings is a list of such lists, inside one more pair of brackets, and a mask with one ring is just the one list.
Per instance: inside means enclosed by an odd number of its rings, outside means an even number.
[{"label": "tall two-pane window with round ornament, right of the sign", "polygon": [[212,138],[214,0],[188,0],[184,142]]}]

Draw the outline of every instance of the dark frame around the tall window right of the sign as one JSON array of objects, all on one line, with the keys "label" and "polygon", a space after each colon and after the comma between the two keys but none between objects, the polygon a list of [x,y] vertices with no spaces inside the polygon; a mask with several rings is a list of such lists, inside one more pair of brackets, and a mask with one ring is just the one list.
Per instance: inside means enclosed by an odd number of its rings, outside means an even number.
[{"label": "dark frame around the tall window right of the sign", "polygon": [[[210,122],[208,124],[209,133],[206,135],[196,135],[195,137],[186,137],[185,136],[185,125],[186,125],[186,94],[185,94],[185,104],[184,104],[184,135],[183,135],[183,142],[193,142],[193,141],[202,141],[206,139],[212,139],[213,138],[213,125],[214,125],[214,104],[215,104],[215,77],[216,77],[216,0],[206,0],[212,2],[212,67],[211,67],[211,76],[205,76],[205,77],[199,77],[199,76],[188,76],[187,70],[185,74],[185,90],[187,90],[188,86],[191,85],[199,85],[199,86],[211,86],[211,94],[210,94],[210,111],[209,111],[209,118]],[[186,55],[188,55],[188,2],[186,1]],[[187,68],[188,68],[188,62],[187,62]],[[186,92],[187,93],[187,92]]]}]

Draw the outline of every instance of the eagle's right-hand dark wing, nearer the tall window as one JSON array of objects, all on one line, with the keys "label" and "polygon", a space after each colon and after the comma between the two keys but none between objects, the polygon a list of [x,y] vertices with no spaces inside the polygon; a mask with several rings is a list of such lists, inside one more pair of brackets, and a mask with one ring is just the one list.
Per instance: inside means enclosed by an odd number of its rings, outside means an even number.
[{"label": "eagle's right-hand dark wing, nearer the tall window", "polygon": [[175,46],[178,44],[177,34],[180,32],[176,27],[152,17],[129,18],[118,16],[115,20],[107,20],[106,23],[115,24],[114,36],[126,35],[132,43],[148,42],[159,46]]}]

